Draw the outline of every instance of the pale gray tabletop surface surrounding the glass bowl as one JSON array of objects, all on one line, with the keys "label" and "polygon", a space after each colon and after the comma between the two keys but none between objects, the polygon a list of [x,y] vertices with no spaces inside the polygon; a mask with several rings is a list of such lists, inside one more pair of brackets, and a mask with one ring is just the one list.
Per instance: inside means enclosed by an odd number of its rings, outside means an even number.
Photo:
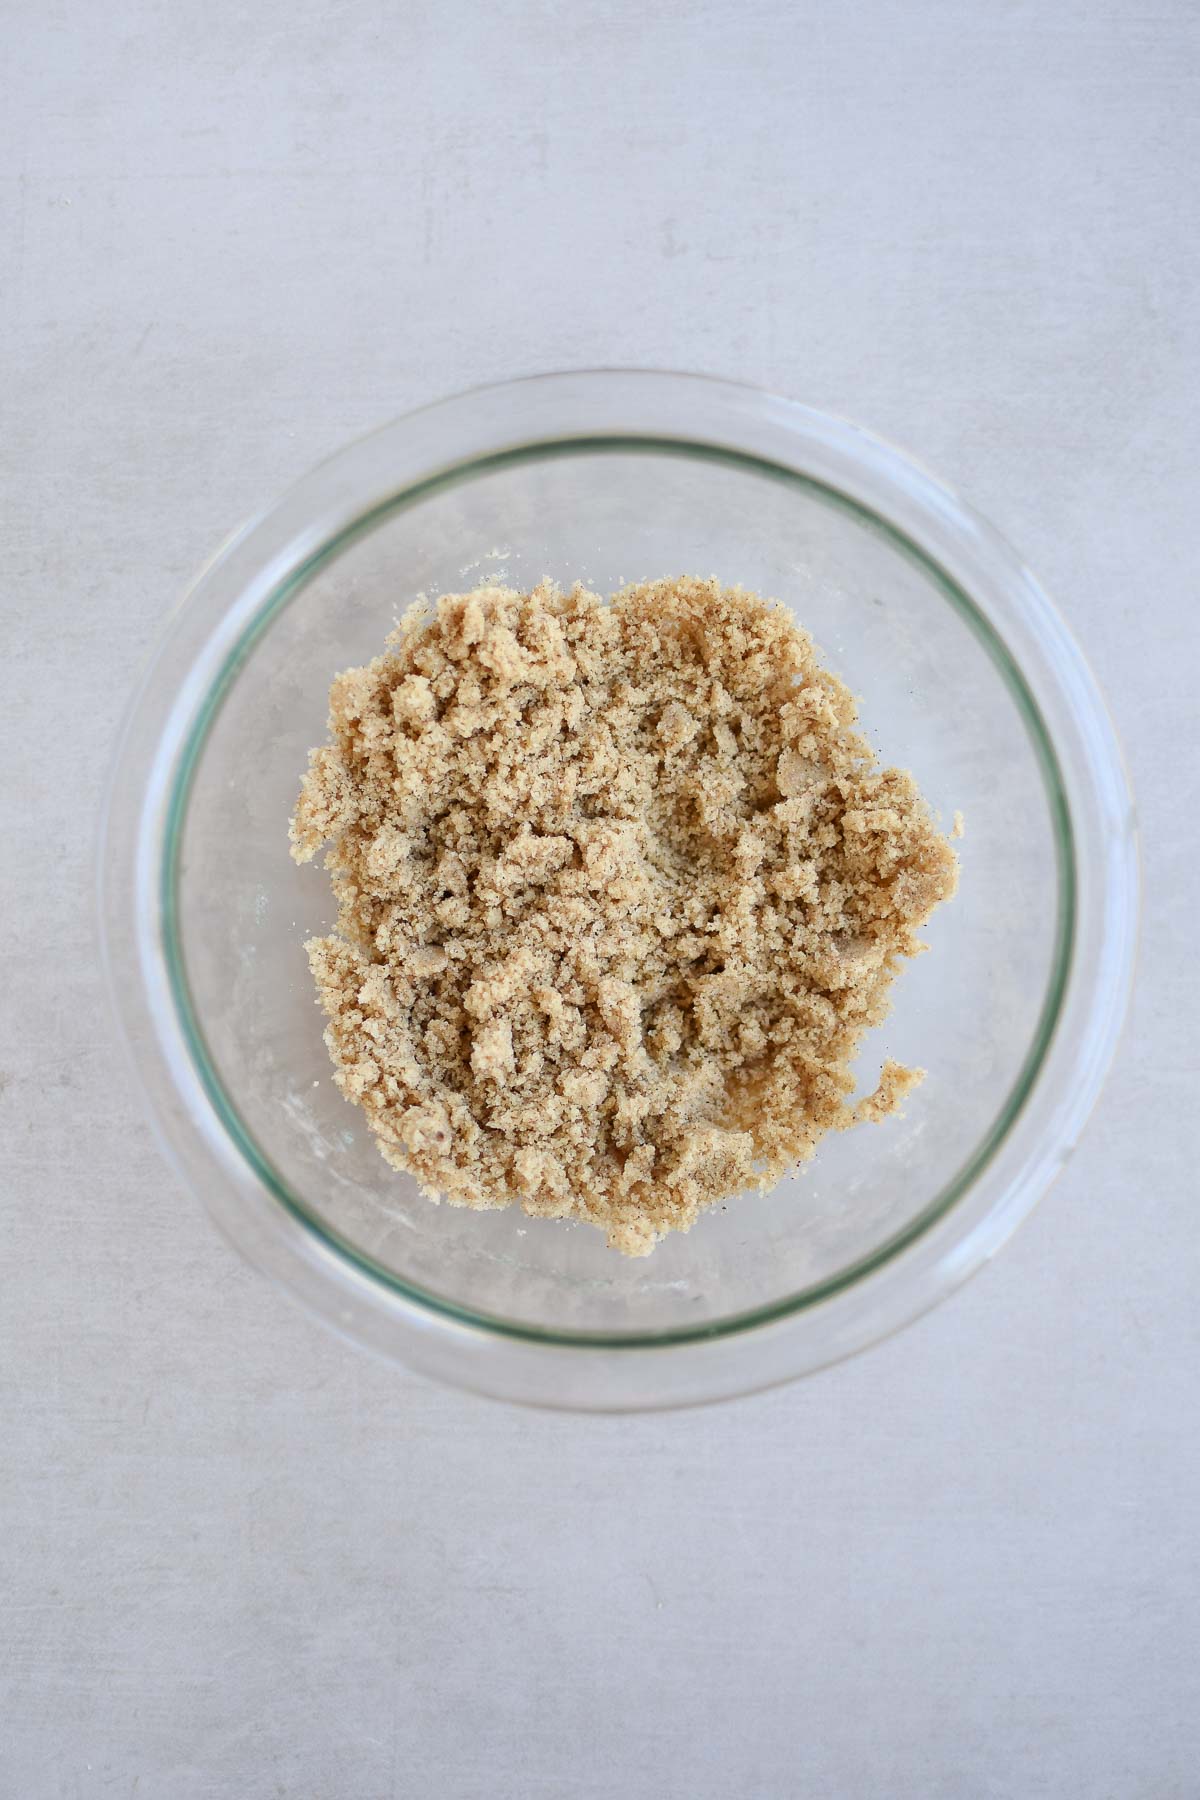
[{"label": "pale gray tabletop surface surrounding the glass bowl", "polygon": [[[1189,0],[4,5],[0,1796],[1200,1795]],[[164,1170],[92,821],[189,574],[563,364],[973,499],[1106,684],[1142,976],[1000,1262],[804,1386],[576,1420],[376,1364]]]}]

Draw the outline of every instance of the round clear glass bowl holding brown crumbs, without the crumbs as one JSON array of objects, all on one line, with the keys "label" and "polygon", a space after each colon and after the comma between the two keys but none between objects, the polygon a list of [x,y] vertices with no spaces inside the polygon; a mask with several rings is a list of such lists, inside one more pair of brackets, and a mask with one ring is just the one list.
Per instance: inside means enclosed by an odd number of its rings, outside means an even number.
[{"label": "round clear glass bowl holding brown crumbs, without the crumbs", "polygon": [[[887,761],[966,819],[957,900],[864,1049],[928,1078],[630,1262],[587,1226],[432,1206],[329,1080],[288,855],[333,673],[419,592],[716,574],[777,596]],[[234,536],[175,616],[112,781],[112,992],[167,1150],[228,1237],[349,1337],[493,1395],[644,1408],[813,1370],[912,1319],[1061,1168],[1133,961],[1117,743],[1002,540],[840,419],[696,376],[552,374],[428,407]]]}]

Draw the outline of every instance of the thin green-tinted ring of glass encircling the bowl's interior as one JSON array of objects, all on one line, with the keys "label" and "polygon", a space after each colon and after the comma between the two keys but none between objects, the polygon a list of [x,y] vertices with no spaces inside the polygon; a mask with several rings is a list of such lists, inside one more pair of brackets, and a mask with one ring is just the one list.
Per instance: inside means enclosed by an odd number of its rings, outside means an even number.
[{"label": "thin green-tinted ring of glass encircling the bowl's interior", "polygon": [[[446,1300],[430,1289],[417,1287],[416,1283],[403,1282],[383,1264],[376,1262],[365,1251],[358,1249],[338,1231],[333,1231],[299,1195],[291,1192],[284,1177],[273,1166],[270,1157],[261,1150],[254,1134],[241,1118],[228,1089],[225,1087],[209,1044],[205,1040],[203,1030],[196,1017],[193,1006],[191,986],[187,981],[187,968],[184,958],[184,947],[178,934],[178,877],[180,877],[180,853],[182,853],[182,832],[184,819],[187,814],[187,801],[191,794],[193,778],[203,752],[205,742],[216,722],[216,716],[228,695],[237,671],[246,662],[254,646],[259,643],[266,628],[279,617],[279,614],[295,599],[302,587],[329,562],[333,562],[342,551],[358,538],[365,536],[383,520],[394,517],[399,511],[416,506],[419,500],[428,499],[435,493],[444,493],[450,488],[461,486],[477,475],[489,473],[495,470],[509,468],[520,463],[551,461],[558,457],[570,455],[603,455],[603,454],[653,454],[653,455],[676,455],[680,459],[698,459],[721,463],[725,466],[738,468],[741,472],[750,472],[756,475],[765,475],[772,481],[783,481],[788,486],[804,490],[806,493],[817,495],[828,506],[838,511],[849,513],[860,526],[883,536],[901,556],[916,563],[927,574],[934,587],[939,589],[945,599],[955,608],[963,617],[966,626],[982,644],[984,652],[997,668],[1000,679],[1004,680],[1016,711],[1029,733],[1033,751],[1042,772],[1042,781],[1045,787],[1047,805],[1051,812],[1051,823],[1054,832],[1054,851],[1058,862],[1058,918],[1054,931],[1054,958],[1051,965],[1051,976],[1047,981],[1045,1001],[1038,1017],[1036,1030],[1025,1060],[1009,1089],[1004,1105],[1000,1107],[995,1121],[991,1123],[986,1136],[981,1139],[972,1156],[963,1163],[955,1175],[941,1188],[941,1192],[912,1219],[901,1231],[894,1233],[883,1244],[880,1244],[869,1256],[858,1258],[858,1262],[849,1264],[849,1267],[838,1271],[838,1274],[829,1276],[824,1282],[813,1283],[813,1287],[801,1289],[797,1294],[790,1294],[786,1300],[772,1301],[765,1307],[754,1307],[747,1312],[736,1312],[723,1319],[712,1319],[707,1325],[698,1327],[676,1327],[662,1332],[569,1332],[569,1330],[549,1330],[534,1325],[524,1325],[516,1319],[506,1319],[498,1314],[477,1312],[470,1307],[461,1307],[459,1303]],[[1061,1010],[1063,995],[1067,992],[1067,979],[1070,974],[1070,961],[1074,950],[1074,925],[1076,925],[1076,846],[1074,832],[1070,824],[1070,808],[1067,803],[1067,788],[1063,783],[1061,769],[1051,734],[1042,718],[1042,709],[1029,689],[1018,664],[1009,655],[1004,639],[999,635],[995,626],[984,616],[984,612],[975,605],[970,594],[925,551],[921,545],[910,538],[905,531],[894,526],[891,520],[880,517],[878,513],[865,508],[853,495],[844,493],[831,482],[819,481],[813,475],[804,475],[799,470],[788,468],[783,463],[775,463],[768,457],[754,455],[745,450],[734,450],[725,445],[711,445],[678,437],[658,437],[651,434],[635,436],[576,436],[563,437],[556,441],[534,441],[525,445],[515,445],[506,450],[489,452],[486,455],[471,457],[462,463],[455,463],[437,473],[432,473],[407,488],[398,490],[385,500],[367,508],[342,529],[338,529],[331,538],[327,538],[317,551],[304,558],[293,571],[290,571],[268,594],[263,605],[257,608],[254,617],[245,625],[237,641],[228,650],[221,668],[218,670],[209,691],[205,693],[196,716],[189,727],[187,738],[184,742],[167,797],[166,810],[166,828],[164,828],[164,848],[160,864],[160,907],[162,907],[162,943],[167,967],[167,981],[171,995],[180,1017],[184,1040],[187,1053],[191,1057],[193,1067],[203,1085],[209,1102],[225,1129],[228,1139],[237,1148],[252,1174],[263,1183],[263,1186],[286,1208],[286,1211],[309,1231],[326,1249],[333,1251],[335,1256],[347,1262],[360,1274],[369,1280],[378,1282],[390,1294],[421,1307],[426,1312],[448,1319],[457,1325],[471,1327],[475,1330],[495,1332],[504,1337],[513,1337],[525,1343],[554,1345],[561,1348],[581,1348],[581,1350],[649,1350],[664,1348],[673,1345],[693,1345],[703,1343],[718,1337],[730,1337],[763,1325],[774,1325],[781,1319],[792,1318],[793,1314],[806,1312],[824,1300],[831,1300],[835,1294],[860,1283],[864,1278],[883,1269],[887,1264],[894,1262],[905,1249],[925,1237],[952,1208],[963,1199],[972,1183],[988,1168],[997,1150],[1009,1136],[1013,1125],[1016,1123],[1025,1100],[1029,1098],[1042,1064],[1045,1062],[1051,1039],[1054,1035],[1054,1026]]]}]

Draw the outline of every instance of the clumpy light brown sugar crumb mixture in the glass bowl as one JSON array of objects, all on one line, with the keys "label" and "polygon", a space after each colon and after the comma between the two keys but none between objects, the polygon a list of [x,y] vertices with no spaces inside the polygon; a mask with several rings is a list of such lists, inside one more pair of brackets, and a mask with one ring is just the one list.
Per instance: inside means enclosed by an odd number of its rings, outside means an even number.
[{"label": "clumpy light brown sugar crumb mixture in the glass bowl", "polygon": [[896,1111],[849,1064],[957,886],[909,774],[774,601],[543,581],[410,612],[329,695],[291,855],[335,1080],[430,1199],[640,1256]]}]

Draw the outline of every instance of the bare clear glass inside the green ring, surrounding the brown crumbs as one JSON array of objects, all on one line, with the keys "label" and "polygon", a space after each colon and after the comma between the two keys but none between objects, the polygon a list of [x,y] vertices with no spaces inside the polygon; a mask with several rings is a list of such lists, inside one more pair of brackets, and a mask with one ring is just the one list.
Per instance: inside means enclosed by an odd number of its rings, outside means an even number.
[{"label": "bare clear glass inside the green ring, surrounding the brown crumbs", "polygon": [[[862,697],[880,756],[966,821],[955,902],[865,1040],[923,1066],[907,1116],[824,1141],[630,1262],[585,1226],[432,1206],[378,1156],[331,1082],[304,940],[329,929],[288,819],[329,680],[376,655],[419,594],[543,574],[610,592],[716,574],[792,607]],[[175,801],[173,941],[194,1055],[241,1154],[282,1204],[383,1280],[547,1334],[707,1330],[853,1280],[973,1179],[1020,1105],[1061,974],[1063,857],[1047,752],[1020,673],[968,596],[846,499],[684,445],[513,452],[401,495],[268,601],[227,662]]]}]

